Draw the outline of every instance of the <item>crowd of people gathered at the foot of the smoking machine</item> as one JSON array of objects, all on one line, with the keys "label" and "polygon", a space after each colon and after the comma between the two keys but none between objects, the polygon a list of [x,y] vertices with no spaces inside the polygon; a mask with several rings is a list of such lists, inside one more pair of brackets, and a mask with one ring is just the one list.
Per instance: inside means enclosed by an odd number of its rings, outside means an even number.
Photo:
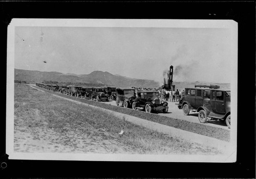
[{"label": "crowd of people gathered at the foot of the smoking machine", "polygon": [[180,101],[182,97],[184,96],[185,92],[184,90],[181,91],[180,89],[175,90],[166,90],[166,89],[157,89],[157,88],[141,88],[141,87],[132,87],[135,90],[135,93],[137,91],[142,91],[142,90],[154,90],[158,92],[158,96],[165,101]]}]

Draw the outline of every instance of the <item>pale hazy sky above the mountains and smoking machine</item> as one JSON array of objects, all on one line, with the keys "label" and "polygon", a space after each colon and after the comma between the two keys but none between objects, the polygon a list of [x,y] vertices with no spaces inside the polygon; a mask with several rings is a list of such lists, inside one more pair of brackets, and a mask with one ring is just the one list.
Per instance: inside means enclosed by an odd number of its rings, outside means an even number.
[{"label": "pale hazy sky above the mountains and smoking machine", "polygon": [[[230,83],[229,29],[15,27],[17,69]],[[46,61],[47,63],[44,63]]]}]

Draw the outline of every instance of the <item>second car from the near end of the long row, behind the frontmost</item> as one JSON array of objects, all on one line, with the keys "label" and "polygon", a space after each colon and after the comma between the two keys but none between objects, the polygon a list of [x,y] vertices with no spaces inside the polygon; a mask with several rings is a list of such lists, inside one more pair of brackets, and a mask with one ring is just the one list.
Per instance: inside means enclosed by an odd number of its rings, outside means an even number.
[{"label": "second car from the near end of the long row, behind the frontmost", "polygon": [[116,88],[116,105],[132,108],[132,101],[136,98],[133,88]]}]

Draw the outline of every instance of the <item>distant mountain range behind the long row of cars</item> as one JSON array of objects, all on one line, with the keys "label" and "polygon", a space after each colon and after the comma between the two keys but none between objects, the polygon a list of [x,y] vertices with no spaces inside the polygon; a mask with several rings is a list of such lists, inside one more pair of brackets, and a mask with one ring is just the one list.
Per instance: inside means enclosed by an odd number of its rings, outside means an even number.
[{"label": "distant mountain range behind the long row of cars", "polygon": [[160,84],[153,80],[141,80],[114,75],[107,71],[93,71],[90,74],[60,73],[56,71],[36,71],[14,69],[14,81],[35,84],[57,82],[61,84],[83,84],[85,86],[148,87],[158,88]]}]

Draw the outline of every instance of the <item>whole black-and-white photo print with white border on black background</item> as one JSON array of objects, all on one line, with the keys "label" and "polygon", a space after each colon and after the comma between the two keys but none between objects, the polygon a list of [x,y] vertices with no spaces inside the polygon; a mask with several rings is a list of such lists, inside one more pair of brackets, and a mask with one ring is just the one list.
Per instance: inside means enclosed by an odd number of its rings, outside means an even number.
[{"label": "whole black-and-white photo print with white border on black background", "polygon": [[12,19],[9,158],[236,162],[237,28],[233,20]]}]

